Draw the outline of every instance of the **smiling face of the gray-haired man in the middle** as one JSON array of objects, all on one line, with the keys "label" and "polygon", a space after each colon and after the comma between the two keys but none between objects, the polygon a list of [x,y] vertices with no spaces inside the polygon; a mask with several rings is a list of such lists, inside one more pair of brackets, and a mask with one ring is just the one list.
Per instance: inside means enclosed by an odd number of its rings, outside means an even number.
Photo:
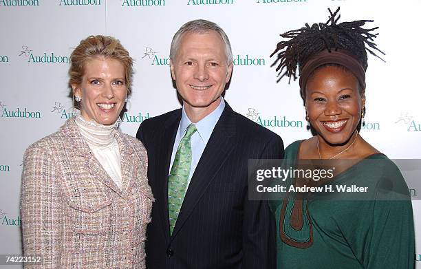
[{"label": "smiling face of the gray-haired man in the middle", "polygon": [[170,67],[184,108],[208,111],[219,105],[233,70],[233,64],[227,63],[224,41],[215,31],[183,34]]}]

